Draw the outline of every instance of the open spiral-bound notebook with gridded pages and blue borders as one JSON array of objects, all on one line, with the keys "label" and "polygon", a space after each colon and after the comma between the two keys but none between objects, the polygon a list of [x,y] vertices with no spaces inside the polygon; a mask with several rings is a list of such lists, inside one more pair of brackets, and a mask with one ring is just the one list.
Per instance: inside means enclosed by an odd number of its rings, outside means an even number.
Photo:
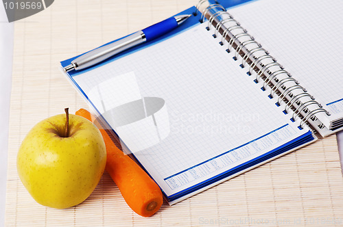
[{"label": "open spiral-bound notebook with gridded pages and blue borders", "polygon": [[340,130],[340,6],[200,1],[166,36],[64,74],[175,204]]}]

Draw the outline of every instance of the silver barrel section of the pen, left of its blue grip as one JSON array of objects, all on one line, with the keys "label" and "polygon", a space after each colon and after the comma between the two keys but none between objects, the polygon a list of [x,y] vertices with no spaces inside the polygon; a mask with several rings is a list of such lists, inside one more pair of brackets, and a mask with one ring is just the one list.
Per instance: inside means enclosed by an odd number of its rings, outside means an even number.
[{"label": "silver barrel section of the pen, left of its blue grip", "polygon": [[75,64],[78,70],[82,70],[102,62],[113,55],[117,55],[126,49],[130,49],[133,46],[141,44],[142,42],[145,42],[145,35],[143,34],[143,31],[137,31],[130,36],[126,36],[113,43],[106,44],[94,49],[93,51],[89,51],[88,53],[74,59],[71,64]]}]

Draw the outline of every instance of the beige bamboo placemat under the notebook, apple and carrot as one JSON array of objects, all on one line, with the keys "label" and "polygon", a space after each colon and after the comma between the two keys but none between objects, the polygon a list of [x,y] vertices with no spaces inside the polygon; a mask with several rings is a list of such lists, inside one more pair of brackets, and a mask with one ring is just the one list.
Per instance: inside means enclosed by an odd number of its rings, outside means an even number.
[{"label": "beige bamboo placemat under the notebook, apple and carrot", "polygon": [[144,218],[126,205],[105,172],[82,204],[37,204],[16,172],[16,153],[40,120],[86,103],[59,71],[63,59],[147,27],[196,4],[189,1],[67,1],[15,23],[6,226],[337,226],[343,180],[335,135]]}]

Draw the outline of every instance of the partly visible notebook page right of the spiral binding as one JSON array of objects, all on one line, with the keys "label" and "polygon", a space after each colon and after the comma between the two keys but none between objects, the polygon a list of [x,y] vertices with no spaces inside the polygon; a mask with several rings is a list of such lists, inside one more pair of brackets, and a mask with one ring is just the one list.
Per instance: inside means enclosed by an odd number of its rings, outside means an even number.
[{"label": "partly visible notebook page right of the spiral binding", "polygon": [[337,119],[343,117],[342,10],[340,0],[258,0],[228,12]]}]

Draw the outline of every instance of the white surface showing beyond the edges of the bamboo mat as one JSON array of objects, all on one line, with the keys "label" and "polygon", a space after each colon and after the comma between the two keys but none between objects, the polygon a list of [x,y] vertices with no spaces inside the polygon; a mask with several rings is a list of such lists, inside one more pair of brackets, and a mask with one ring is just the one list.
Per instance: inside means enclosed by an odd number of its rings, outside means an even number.
[{"label": "white surface showing beyond the edges of the bamboo mat", "polygon": [[[0,3],[0,226],[4,224],[5,182],[8,153],[8,114],[10,107],[10,88],[12,75],[13,23],[8,23]],[[343,132],[338,133],[338,146],[341,163],[343,151]]]}]

